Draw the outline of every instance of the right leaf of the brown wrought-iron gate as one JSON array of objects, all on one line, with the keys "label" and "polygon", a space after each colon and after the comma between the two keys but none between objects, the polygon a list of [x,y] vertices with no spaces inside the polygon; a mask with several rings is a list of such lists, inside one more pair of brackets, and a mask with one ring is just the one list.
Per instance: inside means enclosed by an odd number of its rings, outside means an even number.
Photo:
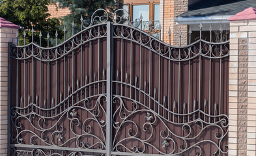
[{"label": "right leaf of the brown wrought-iron gate", "polygon": [[124,25],[113,38],[113,150],[225,155],[227,44],[169,47]]}]

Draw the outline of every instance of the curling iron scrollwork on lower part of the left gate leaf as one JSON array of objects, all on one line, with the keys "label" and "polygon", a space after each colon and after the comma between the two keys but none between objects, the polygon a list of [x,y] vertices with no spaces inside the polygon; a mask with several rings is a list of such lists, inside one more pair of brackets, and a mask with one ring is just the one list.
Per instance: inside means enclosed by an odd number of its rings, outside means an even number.
[{"label": "curling iron scrollwork on lower part of the left gate leaf", "polygon": [[[86,104],[90,101],[89,99],[84,99],[83,105],[76,103],[76,105],[66,107],[66,109],[54,116],[48,116],[48,113],[38,112],[51,110],[52,114],[57,107],[61,107],[61,104],[51,109],[39,108],[35,103],[31,103],[27,107],[12,107],[11,121],[15,127],[15,130],[10,135],[12,142],[16,140],[17,144],[30,145],[40,145],[42,144],[40,142],[43,142],[47,146],[55,147],[64,147],[69,142],[76,142],[76,147],[80,149],[106,149],[106,121],[101,119],[102,116],[106,116],[106,111],[102,106],[102,103],[106,102],[106,96],[98,96],[93,105]],[[64,108],[65,102],[62,105],[62,108]],[[23,114],[23,110],[33,110],[32,107],[36,107],[39,111]],[[78,111],[88,114],[88,118],[81,118]],[[50,124],[50,122],[52,123]],[[63,125],[64,122],[68,124]],[[24,123],[29,123],[29,125],[24,125]],[[92,127],[92,123],[94,127]],[[98,126],[96,126],[97,123]],[[27,126],[33,127],[35,130],[32,131]],[[95,128],[100,129],[100,133],[95,133]],[[69,136],[66,135],[66,130],[72,134],[72,137],[68,138]],[[27,138],[24,139],[24,137],[28,136],[30,136],[29,142]],[[90,141],[91,143],[86,142],[85,138],[87,137],[91,137],[95,141]]]}]

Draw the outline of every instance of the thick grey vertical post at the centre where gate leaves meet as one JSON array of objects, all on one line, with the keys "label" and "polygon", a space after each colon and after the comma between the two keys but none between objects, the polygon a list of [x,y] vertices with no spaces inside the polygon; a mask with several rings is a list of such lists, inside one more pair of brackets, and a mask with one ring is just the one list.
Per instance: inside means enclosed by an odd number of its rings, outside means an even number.
[{"label": "thick grey vertical post at the centre where gate leaves meet", "polygon": [[107,21],[107,156],[112,151],[112,67],[113,67],[113,25]]}]

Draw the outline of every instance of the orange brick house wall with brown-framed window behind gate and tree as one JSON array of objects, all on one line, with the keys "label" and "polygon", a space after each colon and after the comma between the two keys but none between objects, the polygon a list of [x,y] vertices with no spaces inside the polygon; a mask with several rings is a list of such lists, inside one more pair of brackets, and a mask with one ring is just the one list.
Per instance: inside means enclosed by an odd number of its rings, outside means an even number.
[{"label": "orange brick house wall with brown-framed window behind gate and tree", "polygon": [[[199,0],[124,0],[122,1],[122,8],[129,12],[132,21],[139,18],[140,14],[142,14],[144,25],[146,25],[149,20],[153,21],[156,29],[159,29],[161,25],[161,40],[164,40],[166,43],[169,43],[168,32],[170,29],[171,45],[179,44],[178,40],[174,40],[174,38],[178,38],[178,31],[180,29],[182,33],[181,45],[186,45],[188,25],[177,23],[175,18],[186,12],[188,6],[197,1]],[[51,18],[61,18],[70,13],[68,8],[58,8],[58,5],[50,5],[48,8]],[[148,29],[148,27],[145,27],[145,29]]]}]

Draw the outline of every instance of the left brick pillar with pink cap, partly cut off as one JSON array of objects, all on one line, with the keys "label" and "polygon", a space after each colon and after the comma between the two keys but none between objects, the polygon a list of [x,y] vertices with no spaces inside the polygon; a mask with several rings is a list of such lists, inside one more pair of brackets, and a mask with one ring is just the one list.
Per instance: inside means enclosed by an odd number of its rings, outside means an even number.
[{"label": "left brick pillar with pink cap, partly cut off", "polygon": [[0,155],[8,153],[8,42],[16,44],[18,26],[0,18]]}]

